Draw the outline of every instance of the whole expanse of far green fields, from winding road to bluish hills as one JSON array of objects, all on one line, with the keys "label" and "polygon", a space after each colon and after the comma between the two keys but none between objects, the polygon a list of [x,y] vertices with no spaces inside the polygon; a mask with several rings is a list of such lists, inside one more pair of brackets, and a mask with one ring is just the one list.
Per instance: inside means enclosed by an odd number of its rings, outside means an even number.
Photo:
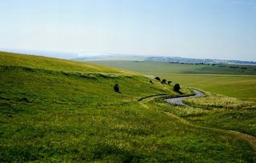
[{"label": "whole expanse of far green fields, from winding road to bluish hills", "polygon": [[[229,66],[220,68],[209,65],[135,61],[97,61],[97,63],[158,76],[161,79],[171,80],[173,83],[179,83],[183,86],[200,88],[230,97],[256,98],[256,76],[237,75],[240,74],[236,71],[238,69],[228,68]],[[255,66],[247,67],[254,70]]]}]

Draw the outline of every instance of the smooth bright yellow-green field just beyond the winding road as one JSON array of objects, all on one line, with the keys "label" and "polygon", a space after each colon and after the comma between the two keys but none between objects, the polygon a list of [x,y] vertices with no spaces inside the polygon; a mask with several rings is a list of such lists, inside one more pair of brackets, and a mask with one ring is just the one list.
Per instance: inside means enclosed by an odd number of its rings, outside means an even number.
[{"label": "smooth bright yellow-green field just beyond the winding road", "polygon": [[256,76],[153,74],[173,83],[242,99],[256,98]]}]

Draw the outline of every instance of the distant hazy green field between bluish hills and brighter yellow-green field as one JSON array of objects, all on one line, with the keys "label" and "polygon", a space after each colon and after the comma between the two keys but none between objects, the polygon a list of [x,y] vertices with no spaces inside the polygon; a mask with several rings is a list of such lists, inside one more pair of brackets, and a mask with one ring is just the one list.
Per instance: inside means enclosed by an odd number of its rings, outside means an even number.
[{"label": "distant hazy green field between bluish hills and brighter yellow-green field", "polygon": [[[102,64],[111,67],[122,68],[126,70],[149,73],[149,74],[231,74],[231,75],[256,75],[255,65],[208,65],[208,64],[180,64],[164,62],[142,62],[142,61],[90,61],[92,63]],[[219,67],[225,66],[225,67]],[[238,68],[230,68],[238,67]],[[246,68],[246,69],[242,69]]]}]

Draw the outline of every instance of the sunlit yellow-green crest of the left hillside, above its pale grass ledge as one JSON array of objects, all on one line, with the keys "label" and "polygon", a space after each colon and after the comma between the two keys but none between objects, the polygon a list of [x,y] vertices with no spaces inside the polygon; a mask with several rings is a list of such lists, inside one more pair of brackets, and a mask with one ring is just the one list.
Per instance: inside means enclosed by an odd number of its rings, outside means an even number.
[{"label": "sunlit yellow-green crest of the left hillside, above its pale grass ledge", "polygon": [[107,68],[92,63],[76,62],[71,60],[61,60],[46,58],[35,55],[21,55],[7,52],[0,52],[1,66],[21,66],[37,68],[43,70],[71,71],[71,72],[106,72],[115,74],[135,74],[135,72],[125,71],[116,68]]}]

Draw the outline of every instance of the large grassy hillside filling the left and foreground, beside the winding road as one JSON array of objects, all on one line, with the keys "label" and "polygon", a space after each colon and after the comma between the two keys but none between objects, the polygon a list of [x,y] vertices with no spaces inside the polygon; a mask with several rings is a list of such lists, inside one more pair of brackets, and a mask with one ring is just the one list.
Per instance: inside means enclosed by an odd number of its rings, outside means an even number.
[{"label": "large grassy hillside filling the left and foreground, beside the winding road", "polygon": [[[207,110],[202,104],[192,101],[201,107],[193,111],[166,104],[159,97],[139,101],[159,94],[180,96],[173,85],[91,63],[4,52],[0,52],[0,71],[1,162],[254,159],[254,146],[245,138],[222,131],[218,125],[217,129],[209,128],[212,124],[194,125],[177,112],[203,116]],[[116,83],[121,93],[114,91]],[[191,94],[185,87],[181,91]],[[253,111],[252,102],[245,106]],[[255,114],[250,118],[250,127],[245,126],[243,132],[256,136]],[[241,126],[233,125],[238,120],[234,117],[229,126],[241,131]]]}]

